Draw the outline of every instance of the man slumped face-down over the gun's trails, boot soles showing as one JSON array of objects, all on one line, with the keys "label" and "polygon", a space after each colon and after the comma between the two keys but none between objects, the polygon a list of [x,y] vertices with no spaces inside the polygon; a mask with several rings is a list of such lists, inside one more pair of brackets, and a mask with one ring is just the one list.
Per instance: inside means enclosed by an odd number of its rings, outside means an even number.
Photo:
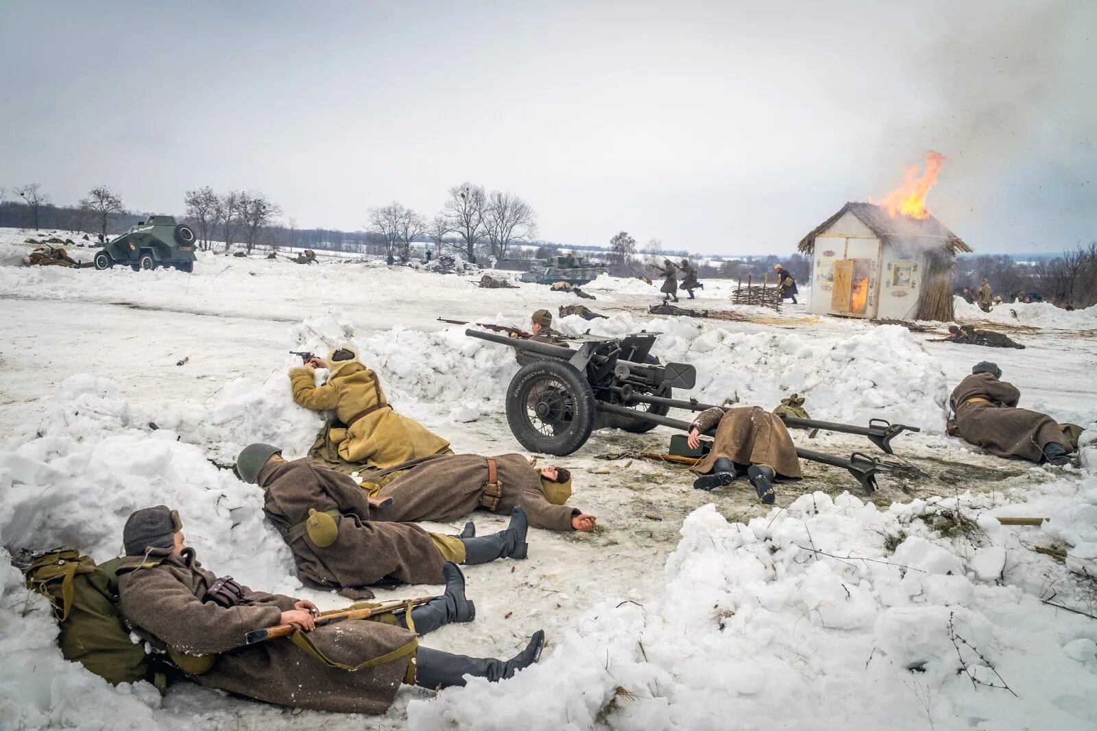
[{"label": "man slumped face-down over the gun's trails, boot soles showing", "polygon": [[742,408],[709,408],[697,415],[689,427],[690,449],[699,449],[701,434],[716,428],[712,450],[691,472],[701,475],[693,482],[697,490],[715,490],[730,485],[746,474],[762,503],[776,499],[773,481],[800,480],[800,458],[789,429],[780,416],[758,406]]}]

